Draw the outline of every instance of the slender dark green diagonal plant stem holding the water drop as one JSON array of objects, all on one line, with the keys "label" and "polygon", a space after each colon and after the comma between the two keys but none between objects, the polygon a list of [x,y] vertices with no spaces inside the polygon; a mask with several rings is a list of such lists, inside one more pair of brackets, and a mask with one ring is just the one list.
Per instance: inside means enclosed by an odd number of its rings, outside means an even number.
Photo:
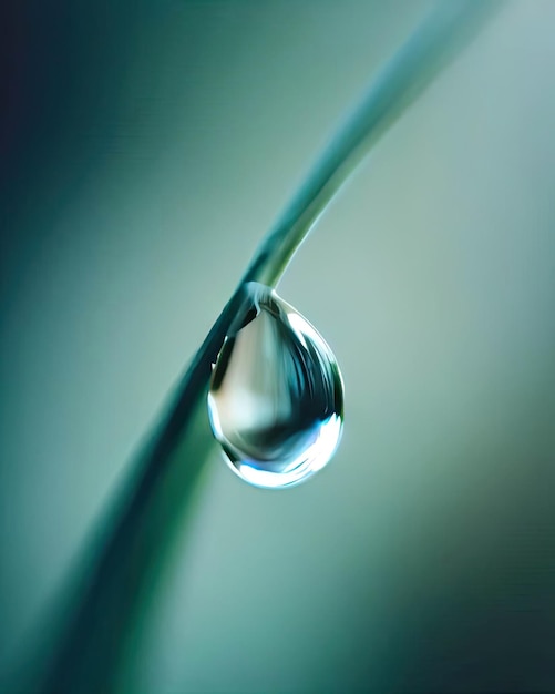
[{"label": "slender dark green diagonal plant stem holding the water drop", "polygon": [[117,513],[43,677],[44,692],[113,692],[145,595],[164,564],[213,441],[205,396],[212,364],[241,302],[246,282],[276,286],[294,253],[368,150],[474,35],[497,2],[439,6],[378,74],[359,108],[330,142],[306,184],[263,241],[236,292],[195,355],[176,397],[134,466]]}]

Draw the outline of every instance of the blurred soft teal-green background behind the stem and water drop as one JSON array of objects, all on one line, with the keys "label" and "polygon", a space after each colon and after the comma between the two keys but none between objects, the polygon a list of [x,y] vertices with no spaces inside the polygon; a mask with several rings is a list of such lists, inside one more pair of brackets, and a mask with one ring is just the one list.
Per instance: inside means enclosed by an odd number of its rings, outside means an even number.
[{"label": "blurred soft teal-green background behind the stem and water drop", "polygon": [[[13,8],[2,670],[428,7]],[[508,6],[299,252],[280,292],[342,365],[342,446],[282,493],[215,456],[121,691],[555,688],[554,22],[549,0]]]}]

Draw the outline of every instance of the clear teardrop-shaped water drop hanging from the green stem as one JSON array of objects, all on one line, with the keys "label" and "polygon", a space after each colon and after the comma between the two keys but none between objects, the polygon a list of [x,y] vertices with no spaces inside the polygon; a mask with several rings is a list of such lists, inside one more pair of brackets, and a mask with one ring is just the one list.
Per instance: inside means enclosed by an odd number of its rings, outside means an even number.
[{"label": "clear teardrop-shaped water drop hanging from the green stem", "polygon": [[256,487],[298,484],[337,449],[343,384],[336,357],[265,285],[247,285],[213,370],[208,414],[226,462]]}]

